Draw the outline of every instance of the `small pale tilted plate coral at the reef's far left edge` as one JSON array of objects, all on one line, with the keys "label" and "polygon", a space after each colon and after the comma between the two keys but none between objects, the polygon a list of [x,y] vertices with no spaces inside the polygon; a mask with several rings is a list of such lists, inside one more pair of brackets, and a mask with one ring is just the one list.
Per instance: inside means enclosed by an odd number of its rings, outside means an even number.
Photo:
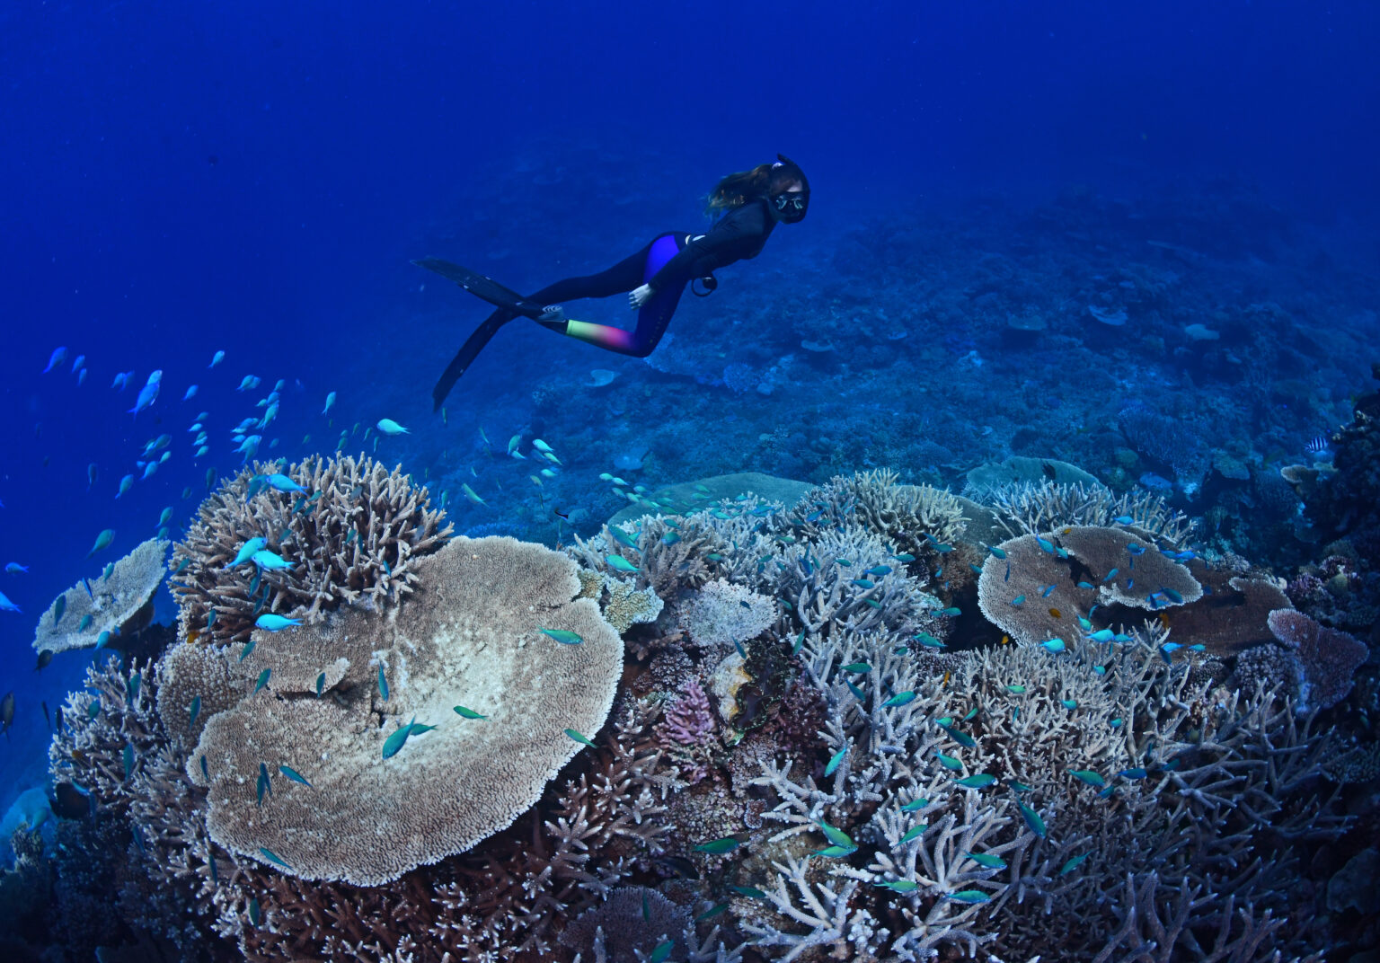
[{"label": "small pale tilted plate coral at the reef's far left edge", "polygon": [[[94,648],[102,632],[120,635],[142,629],[153,615],[153,593],[163,584],[167,550],[166,541],[150,538],[116,562],[109,577],[101,575],[95,581],[83,578],[54,599],[39,617],[33,650],[65,653]],[[63,604],[61,622],[54,618],[59,600]],[[91,621],[83,629],[87,615]]]}]

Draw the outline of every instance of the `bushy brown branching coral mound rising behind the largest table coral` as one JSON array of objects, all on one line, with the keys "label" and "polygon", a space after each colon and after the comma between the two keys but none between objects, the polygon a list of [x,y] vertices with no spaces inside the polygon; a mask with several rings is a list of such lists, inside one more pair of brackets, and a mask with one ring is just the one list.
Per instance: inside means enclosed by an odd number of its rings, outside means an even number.
[{"label": "bushy brown branching coral mound rising behind the largest table coral", "polygon": [[[255,462],[225,482],[174,546],[170,582],[184,639],[196,632],[203,642],[244,642],[259,611],[315,619],[342,602],[406,595],[417,560],[450,535],[426,488],[400,468],[389,472],[364,455],[313,455],[284,469],[306,494],[269,487],[264,479],[277,470],[276,462]],[[230,568],[251,538],[266,538],[293,567]]]}]

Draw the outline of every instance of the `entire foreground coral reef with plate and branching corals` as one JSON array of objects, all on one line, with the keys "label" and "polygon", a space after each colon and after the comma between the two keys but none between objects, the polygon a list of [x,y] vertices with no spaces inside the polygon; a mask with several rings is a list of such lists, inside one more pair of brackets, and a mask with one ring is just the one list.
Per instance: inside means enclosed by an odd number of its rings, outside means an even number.
[{"label": "entire foreground coral reef with plate and branching corals", "polygon": [[102,644],[166,571],[181,610],[61,706],[68,818],[6,883],[65,959],[1317,959],[1368,905],[1321,855],[1380,768],[1366,646],[1024,461],[705,479],[564,550],[370,458],[247,466],[40,621]]}]

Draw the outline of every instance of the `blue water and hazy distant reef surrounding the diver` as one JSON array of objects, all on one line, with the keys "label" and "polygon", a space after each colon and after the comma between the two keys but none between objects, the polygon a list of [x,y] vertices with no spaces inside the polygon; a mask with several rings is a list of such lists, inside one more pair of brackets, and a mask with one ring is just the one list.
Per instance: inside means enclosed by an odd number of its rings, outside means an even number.
[{"label": "blue water and hazy distant reef surrounding the diver", "polygon": [[[164,506],[175,538],[207,468],[240,465],[229,428],[279,379],[261,455],[330,453],[357,425],[345,450],[448,491],[457,530],[548,544],[570,534],[552,506],[584,509],[584,534],[615,510],[596,476],[639,453],[651,487],[890,465],[955,488],[1038,454],[1121,487],[1166,476],[1202,513],[1201,486],[1144,451],[1115,476],[1127,407],[1188,425],[1184,444],[1285,464],[1370,386],[1373,4],[392,7],[0,12],[0,563],[29,566],[0,575],[22,608],[0,613],[0,690],[17,694],[0,810],[43,784],[40,702],[88,664],[34,675],[37,615]],[[684,298],[651,359],[515,323],[432,414],[487,306],[411,258],[518,290],[600,270],[661,230],[704,230],[716,179],[777,152],[810,177],[809,217]],[[1126,326],[1089,316],[1107,291],[1133,292]],[[1260,304],[1279,315],[1243,310]],[[629,323],[621,298],[571,315]],[[1009,327],[1024,316],[1043,328]],[[1195,323],[1217,341],[1185,338]],[[59,345],[68,360],[40,374]],[[128,414],[155,368],[157,403]],[[595,368],[617,381],[588,388]],[[236,392],[244,375],[262,386]],[[201,411],[211,454],[193,461]],[[362,435],[379,418],[410,435],[375,448]],[[522,430],[569,453],[540,493],[505,461]],[[164,432],[168,462],[116,499]],[[116,542],[87,562],[102,528]]]}]

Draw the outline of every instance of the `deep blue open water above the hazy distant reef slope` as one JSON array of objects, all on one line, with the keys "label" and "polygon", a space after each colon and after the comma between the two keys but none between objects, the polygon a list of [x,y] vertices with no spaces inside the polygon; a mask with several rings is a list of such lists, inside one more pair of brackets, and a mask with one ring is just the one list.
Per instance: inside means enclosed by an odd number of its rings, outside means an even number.
[{"label": "deep blue open water above the hazy distant reef slope", "polygon": [[[493,210],[522,217],[461,239],[457,255],[522,250],[551,230],[693,224],[716,177],[777,150],[810,172],[816,230],[922,196],[1227,177],[1373,244],[1374,4],[864,7],[184,0],[0,12],[0,564],[33,568],[0,575],[25,610],[0,613],[0,688],[19,690],[0,806],[41,778],[37,701],[57,705],[84,662],[59,657],[34,686],[34,619],[90,574],[81,557],[101,528],[119,531],[116,557],[164,505],[186,520],[196,498],[181,490],[200,495],[206,465],[188,464],[186,415],[215,413],[222,470],[235,465],[224,429],[253,411],[232,390],[244,374],[265,390],[287,378],[305,399],[284,404],[284,435],[324,441],[309,415],[331,389],[346,419],[379,415],[375,385],[417,393],[403,414],[424,415],[421,386],[453,344],[400,323],[420,284],[407,259],[435,252],[457,199],[490,210],[472,185],[494,170],[607,145],[600,177],[647,203],[580,208],[575,178],[558,186],[573,207],[548,222],[535,197],[495,197]],[[39,375],[59,344],[87,356],[86,385],[68,368]],[[395,359],[385,370],[368,363],[379,345]],[[226,363],[207,373],[218,348]],[[109,390],[130,368],[138,384],[166,371],[138,421],[123,413],[135,389]],[[190,382],[201,395],[182,404]],[[182,446],[174,461],[112,501],[137,446],[163,430]],[[91,494],[88,462],[101,466]]]}]

